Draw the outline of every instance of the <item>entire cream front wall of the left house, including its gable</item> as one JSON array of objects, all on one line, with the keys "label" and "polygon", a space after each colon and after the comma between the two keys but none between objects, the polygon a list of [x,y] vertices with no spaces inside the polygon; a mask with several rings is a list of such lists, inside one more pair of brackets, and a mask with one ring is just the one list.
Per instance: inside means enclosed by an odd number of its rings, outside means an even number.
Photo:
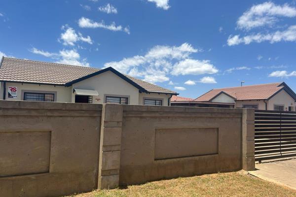
[{"label": "entire cream front wall of the left house, including its gable", "polygon": [[[17,98],[8,98],[8,87],[17,87]],[[83,81],[73,84],[71,87],[38,85],[26,83],[8,83],[6,82],[7,100],[23,100],[24,92],[28,93],[52,93],[55,95],[56,102],[75,102],[73,89],[95,90],[99,96],[93,96],[93,103],[104,103],[106,96],[127,97],[128,104],[142,105],[144,98],[153,98],[163,100],[162,105],[168,105],[168,99],[171,95],[157,93],[139,93],[139,89],[126,82],[111,71],[101,73]],[[0,83],[0,99],[3,99],[3,83]]]}]

